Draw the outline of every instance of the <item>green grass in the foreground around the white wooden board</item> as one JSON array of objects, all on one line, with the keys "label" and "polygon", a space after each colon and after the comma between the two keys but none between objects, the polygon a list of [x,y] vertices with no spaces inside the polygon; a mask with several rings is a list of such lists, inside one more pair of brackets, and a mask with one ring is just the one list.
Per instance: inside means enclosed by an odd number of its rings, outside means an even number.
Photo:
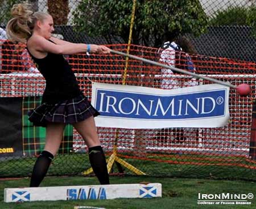
[{"label": "green grass in the foreground around the white wooden board", "polygon": [[[108,209],[171,209],[171,208],[256,208],[253,198],[251,205],[198,205],[198,193],[201,194],[256,194],[256,183],[249,181],[199,180],[188,178],[153,178],[153,177],[110,177],[112,184],[137,184],[139,182],[159,182],[162,184],[162,198],[152,199],[113,199],[85,201],[46,201],[30,203],[4,203],[3,189],[6,187],[27,187],[29,178],[18,180],[0,180],[0,208],[11,209],[73,209],[74,206],[94,206]],[[96,185],[95,177],[46,177],[41,186]]]}]

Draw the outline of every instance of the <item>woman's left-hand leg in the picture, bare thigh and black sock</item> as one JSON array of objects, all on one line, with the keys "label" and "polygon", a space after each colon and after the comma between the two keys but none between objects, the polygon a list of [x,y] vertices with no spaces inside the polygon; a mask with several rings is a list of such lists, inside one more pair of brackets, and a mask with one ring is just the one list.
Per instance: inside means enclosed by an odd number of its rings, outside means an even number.
[{"label": "woman's left-hand leg in the picture, bare thigh and black sock", "polygon": [[44,151],[40,153],[30,181],[30,187],[38,187],[46,176],[49,165],[59,150],[61,140],[63,139],[64,123],[48,123],[46,127],[46,145]]}]

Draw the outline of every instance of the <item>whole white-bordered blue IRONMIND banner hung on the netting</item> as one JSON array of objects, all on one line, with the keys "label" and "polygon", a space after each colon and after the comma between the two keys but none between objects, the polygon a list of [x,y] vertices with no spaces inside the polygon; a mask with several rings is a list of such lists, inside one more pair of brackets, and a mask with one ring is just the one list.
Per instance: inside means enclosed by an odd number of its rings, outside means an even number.
[{"label": "whole white-bordered blue IRONMIND banner hung on the netting", "polygon": [[99,127],[220,127],[229,121],[228,102],[229,87],[220,84],[178,89],[92,84]]}]

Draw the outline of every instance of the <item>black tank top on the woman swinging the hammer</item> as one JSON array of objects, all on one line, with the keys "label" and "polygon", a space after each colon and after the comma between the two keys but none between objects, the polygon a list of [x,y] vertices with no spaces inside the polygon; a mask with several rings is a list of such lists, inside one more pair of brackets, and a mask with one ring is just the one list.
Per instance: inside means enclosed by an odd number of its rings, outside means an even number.
[{"label": "black tank top on the woman swinging the hammer", "polygon": [[82,94],[76,76],[62,54],[48,53],[42,59],[32,56],[31,53],[30,56],[46,79],[42,103],[56,104]]}]

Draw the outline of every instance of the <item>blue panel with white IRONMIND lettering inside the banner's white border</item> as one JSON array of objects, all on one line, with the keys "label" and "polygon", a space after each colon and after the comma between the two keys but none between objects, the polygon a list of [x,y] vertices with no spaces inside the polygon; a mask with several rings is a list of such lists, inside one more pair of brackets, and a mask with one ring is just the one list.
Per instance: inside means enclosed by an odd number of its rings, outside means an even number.
[{"label": "blue panel with white IRONMIND lettering inside the banner's white border", "polygon": [[158,120],[220,117],[225,114],[225,95],[225,89],[170,96],[97,89],[96,109],[107,117]]}]

